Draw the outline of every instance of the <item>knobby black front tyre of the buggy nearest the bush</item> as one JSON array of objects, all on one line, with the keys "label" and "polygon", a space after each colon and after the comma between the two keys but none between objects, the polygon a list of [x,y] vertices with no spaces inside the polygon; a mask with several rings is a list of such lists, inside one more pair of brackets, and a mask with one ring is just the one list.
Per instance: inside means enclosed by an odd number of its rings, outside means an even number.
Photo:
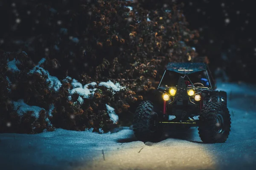
[{"label": "knobby black front tyre of the buggy nearest the bush", "polygon": [[163,134],[157,109],[151,101],[143,101],[135,112],[134,134],[140,141],[158,141]]}]

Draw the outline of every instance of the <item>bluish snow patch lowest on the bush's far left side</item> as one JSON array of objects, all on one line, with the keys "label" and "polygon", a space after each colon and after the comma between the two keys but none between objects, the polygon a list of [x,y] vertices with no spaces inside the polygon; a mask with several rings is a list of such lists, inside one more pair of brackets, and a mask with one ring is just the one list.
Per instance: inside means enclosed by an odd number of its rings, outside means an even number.
[{"label": "bluish snow patch lowest on the bush's far left side", "polygon": [[17,110],[17,114],[20,117],[23,117],[23,115],[28,111],[33,111],[33,116],[35,118],[39,118],[39,112],[41,110],[45,110],[44,108],[37,107],[37,106],[29,106],[24,103],[23,99],[20,99],[18,101],[12,101],[13,109]]}]

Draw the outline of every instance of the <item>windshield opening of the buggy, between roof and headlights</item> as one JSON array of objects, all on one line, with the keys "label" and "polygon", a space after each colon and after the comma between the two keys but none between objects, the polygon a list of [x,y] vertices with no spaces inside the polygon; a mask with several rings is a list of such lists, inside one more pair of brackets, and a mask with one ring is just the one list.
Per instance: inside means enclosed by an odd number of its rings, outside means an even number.
[{"label": "windshield opening of the buggy, between roof and headlights", "polygon": [[163,76],[160,87],[174,87],[177,86],[178,80],[182,76],[187,86],[209,87],[209,79],[206,71],[195,72],[189,75],[180,74],[166,70]]}]

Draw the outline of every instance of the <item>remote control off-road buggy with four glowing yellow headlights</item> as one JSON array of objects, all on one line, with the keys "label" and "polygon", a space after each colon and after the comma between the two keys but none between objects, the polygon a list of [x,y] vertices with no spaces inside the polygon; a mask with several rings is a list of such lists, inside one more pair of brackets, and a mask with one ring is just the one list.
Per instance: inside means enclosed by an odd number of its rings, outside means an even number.
[{"label": "remote control off-road buggy with four glowing yellow headlights", "polygon": [[215,89],[207,64],[169,63],[157,96],[137,107],[135,136],[140,141],[158,141],[169,124],[181,129],[198,127],[204,143],[225,142],[231,127],[227,93]]}]

